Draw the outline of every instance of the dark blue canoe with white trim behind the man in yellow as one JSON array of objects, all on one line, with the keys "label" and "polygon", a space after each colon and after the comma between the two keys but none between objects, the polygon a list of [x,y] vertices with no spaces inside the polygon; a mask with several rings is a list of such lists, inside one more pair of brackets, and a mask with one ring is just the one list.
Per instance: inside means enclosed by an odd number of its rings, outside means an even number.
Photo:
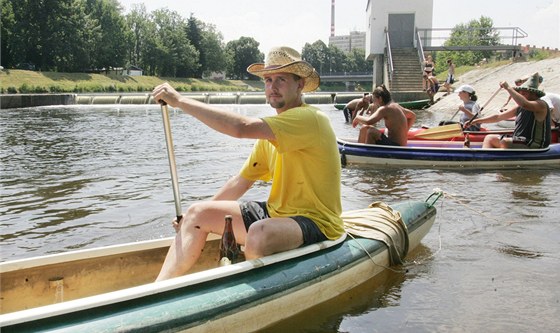
[{"label": "dark blue canoe with white trim behind the man in yellow", "polygon": [[519,168],[560,166],[560,143],[543,149],[485,149],[482,142],[408,140],[407,146],[382,146],[337,139],[342,163],[402,167]]}]

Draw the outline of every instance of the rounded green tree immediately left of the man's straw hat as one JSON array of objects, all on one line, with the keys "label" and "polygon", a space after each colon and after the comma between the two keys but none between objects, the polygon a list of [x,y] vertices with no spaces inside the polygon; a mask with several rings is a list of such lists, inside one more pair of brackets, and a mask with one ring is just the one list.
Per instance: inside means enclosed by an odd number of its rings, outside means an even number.
[{"label": "rounded green tree immediately left of the man's straw hat", "polygon": [[[226,45],[228,76],[232,79],[247,79],[247,67],[255,62],[263,62],[264,54],[259,51],[259,42],[251,37],[241,37]],[[254,77],[252,77],[254,78]]]}]

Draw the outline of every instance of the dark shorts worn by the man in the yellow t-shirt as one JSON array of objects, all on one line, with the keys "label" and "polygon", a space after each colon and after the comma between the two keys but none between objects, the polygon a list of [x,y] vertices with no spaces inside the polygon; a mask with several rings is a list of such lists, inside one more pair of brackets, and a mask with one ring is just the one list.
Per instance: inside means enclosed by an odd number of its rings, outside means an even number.
[{"label": "dark shorts worn by the man in the yellow t-shirt", "polygon": [[[266,202],[262,201],[248,201],[239,204],[241,208],[241,216],[245,223],[245,229],[249,230],[249,226],[254,222],[270,218]],[[317,224],[310,218],[305,216],[290,216],[291,219],[297,222],[303,233],[303,245],[314,244],[327,240],[327,237],[321,232]],[[303,246],[302,245],[302,246]]]}]

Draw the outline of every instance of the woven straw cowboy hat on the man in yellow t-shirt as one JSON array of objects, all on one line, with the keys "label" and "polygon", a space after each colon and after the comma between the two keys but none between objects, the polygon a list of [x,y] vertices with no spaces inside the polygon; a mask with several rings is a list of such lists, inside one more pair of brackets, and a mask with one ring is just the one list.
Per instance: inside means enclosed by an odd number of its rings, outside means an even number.
[{"label": "woven straw cowboy hat on the man in yellow t-shirt", "polygon": [[266,56],[265,63],[252,64],[247,67],[247,72],[264,77],[267,74],[291,73],[305,79],[302,92],[317,89],[321,79],[313,66],[301,59],[301,55],[294,49],[280,46],[274,47]]}]

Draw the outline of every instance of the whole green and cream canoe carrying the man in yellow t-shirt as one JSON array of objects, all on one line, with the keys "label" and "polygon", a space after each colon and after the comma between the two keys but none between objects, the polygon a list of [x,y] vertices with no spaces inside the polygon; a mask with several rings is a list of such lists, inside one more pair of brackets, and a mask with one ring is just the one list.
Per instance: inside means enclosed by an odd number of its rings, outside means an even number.
[{"label": "whole green and cream canoe carrying the man in yellow t-shirt", "polygon": [[[434,223],[433,198],[391,206],[402,216],[399,225],[409,251]],[[372,209],[354,212],[364,211],[377,214]],[[369,221],[379,219],[372,217]],[[348,236],[216,267],[219,239],[209,238],[193,272],[151,282],[170,243],[169,238],[1,263],[0,330],[256,331],[334,298],[391,265],[391,247],[385,242]]]}]

